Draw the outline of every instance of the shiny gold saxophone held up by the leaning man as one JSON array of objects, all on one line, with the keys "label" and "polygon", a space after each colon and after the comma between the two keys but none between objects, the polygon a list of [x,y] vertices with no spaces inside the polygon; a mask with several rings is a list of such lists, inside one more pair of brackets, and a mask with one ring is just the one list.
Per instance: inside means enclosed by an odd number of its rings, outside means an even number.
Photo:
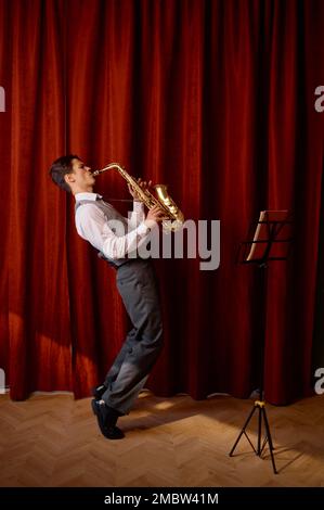
[{"label": "shiny gold saxophone held up by the leaning man", "polygon": [[117,169],[124,179],[131,186],[131,188],[138,193],[139,199],[146,205],[148,209],[152,209],[155,205],[158,205],[168,217],[167,220],[163,221],[163,227],[166,231],[176,232],[183,226],[184,217],[182,212],[176,205],[173,200],[170,197],[165,184],[155,184],[153,188],[156,191],[157,196],[155,196],[151,191],[143,190],[134,179],[130,176],[125,168],[122,168],[118,163],[109,163],[101,170],[92,171],[93,177],[99,176],[103,171]]}]

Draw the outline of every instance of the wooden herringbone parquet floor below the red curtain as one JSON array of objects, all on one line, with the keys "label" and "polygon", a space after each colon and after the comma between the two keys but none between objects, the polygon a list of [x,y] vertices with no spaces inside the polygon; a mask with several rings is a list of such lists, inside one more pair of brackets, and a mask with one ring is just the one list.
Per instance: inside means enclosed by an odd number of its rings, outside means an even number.
[{"label": "wooden herringbone parquet floor below the red curtain", "polygon": [[[105,439],[90,398],[0,395],[0,486],[324,486],[324,395],[288,407],[267,405],[280,474],[243,438],[229,451],[252,400],[217,395],[157,398],[143,392]],[[256,438],[257,424],[250,437]]]}]

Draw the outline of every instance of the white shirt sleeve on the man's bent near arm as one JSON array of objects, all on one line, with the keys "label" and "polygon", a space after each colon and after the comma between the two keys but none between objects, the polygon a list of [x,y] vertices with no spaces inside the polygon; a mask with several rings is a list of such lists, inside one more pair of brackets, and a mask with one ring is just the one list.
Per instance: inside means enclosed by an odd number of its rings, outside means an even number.
[{"label": "white shirt sleeve on the man's bent near arm", "polygon": [[[92,204],[82,204],[76,213],[78,234],[107,258],[125,258],[137,250],[148,237],[150,228],[144,224],[144,213],[140,225],[124,235],[117,235],[109,227],[104,213]],[[130,228],[130,221],[128,221]]]}]

